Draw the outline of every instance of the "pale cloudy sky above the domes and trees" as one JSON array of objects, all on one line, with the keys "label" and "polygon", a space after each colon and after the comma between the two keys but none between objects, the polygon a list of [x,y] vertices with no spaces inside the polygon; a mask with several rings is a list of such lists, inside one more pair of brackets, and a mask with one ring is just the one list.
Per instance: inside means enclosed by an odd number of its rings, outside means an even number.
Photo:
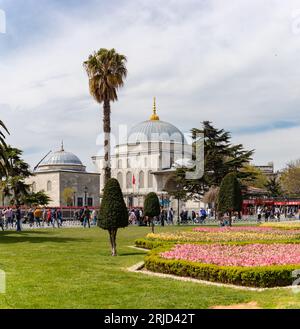
[{"label": "pale cloudy sky above the domes and trees", "polygon": [[[300,158],[300,2],[282,0],[0,0],[0,119],[34,166],[49,150],[89,169],[100,107],[82,62],[99,48],[128,58],[113,130],[160,118],[203,120],[277,169]],[[97,136],[100,138],[97,139]]]}]

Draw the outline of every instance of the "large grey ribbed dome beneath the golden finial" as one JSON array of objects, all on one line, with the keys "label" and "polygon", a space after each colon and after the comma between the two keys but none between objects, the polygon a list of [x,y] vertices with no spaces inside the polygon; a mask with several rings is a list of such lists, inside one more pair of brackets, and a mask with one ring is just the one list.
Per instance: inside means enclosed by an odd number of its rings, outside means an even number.
[{"label": "large grey ribbed dome beneath the golden finial", "polygon": [[161,120],[147,120],[132,127],[128,134],[128,143],[168,142],[186,144],[182,132],[171,123]]}]

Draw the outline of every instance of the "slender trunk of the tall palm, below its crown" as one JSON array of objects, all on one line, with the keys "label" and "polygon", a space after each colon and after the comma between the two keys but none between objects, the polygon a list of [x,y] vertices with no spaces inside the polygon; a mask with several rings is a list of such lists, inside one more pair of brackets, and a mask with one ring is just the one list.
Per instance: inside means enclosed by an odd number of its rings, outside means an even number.
[{"label": "slender trunk of the tall palm, below its crown", "polygon": [[111,178],[110,167],[110,103],[105,100],[103,103],[103,131],[104,131],[104,185]]}]

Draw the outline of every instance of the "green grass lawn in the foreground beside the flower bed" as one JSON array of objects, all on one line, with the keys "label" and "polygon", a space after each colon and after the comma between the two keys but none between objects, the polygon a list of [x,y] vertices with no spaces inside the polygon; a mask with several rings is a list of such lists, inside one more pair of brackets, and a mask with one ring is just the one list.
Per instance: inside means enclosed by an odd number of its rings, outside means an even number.
[{"label": "green grass lawn in the foreground beside the flower bed", "polygon": [[291,290],[240,291],[127,272],[145,254],[128,246],[148,232],[119,230],[118,257],[110,256],[107,232],[98,228],[0,232],[0,269],[7,275],[0,308],[209,308],[253,301],[300,308],[300,293]]}]

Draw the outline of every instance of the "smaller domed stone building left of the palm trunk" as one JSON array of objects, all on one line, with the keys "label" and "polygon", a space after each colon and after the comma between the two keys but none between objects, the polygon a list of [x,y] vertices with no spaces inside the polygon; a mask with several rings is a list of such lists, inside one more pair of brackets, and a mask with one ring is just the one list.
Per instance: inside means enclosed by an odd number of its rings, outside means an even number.
[{"label": "smaller domed stone building left of the palm trunk", "polygon": [[45,191],[51,198],[50,207],[99,206],[100,174],[87,172],[80,159],[66,152],[63,144],[59,151],[42,161],[33,174],[26,183],[33,192]]}]

